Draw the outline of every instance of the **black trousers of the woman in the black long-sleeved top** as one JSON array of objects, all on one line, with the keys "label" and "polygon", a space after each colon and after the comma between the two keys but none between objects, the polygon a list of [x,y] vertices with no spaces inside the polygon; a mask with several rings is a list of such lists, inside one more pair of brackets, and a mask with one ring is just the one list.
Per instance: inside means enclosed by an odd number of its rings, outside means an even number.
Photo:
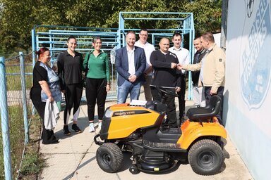
[{"label": "black trousers of the woman in the black long-sleeved top", "polygon": [[71,115],[71,108],[73,108],[73,120],[78,120],[79,105],[82,98],[83,84],[68,84],[66,85],[65,102],[66,108],[64,110],[64,124],[68,124]]}]

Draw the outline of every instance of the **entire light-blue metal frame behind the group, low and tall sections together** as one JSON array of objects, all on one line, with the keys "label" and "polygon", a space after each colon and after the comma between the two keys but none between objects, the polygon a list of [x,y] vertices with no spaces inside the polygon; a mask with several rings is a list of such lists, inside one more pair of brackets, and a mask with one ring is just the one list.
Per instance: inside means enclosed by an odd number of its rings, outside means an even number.
[{"label": "entire light-blue metal frame behind the group, low and tall sections together", "polygon": [[[174,18],[168,17],[174,15]],[[41,46],[47,46],[51,51],[52,63],[56,60],[59,53],[66,51],[66,39],[68,36],[76,36],[77,51],[87,53],[92,50],[92,38],[100,36],[102,38],[102,51],[109,54],[111,62],[111,78],[112,89],[107,95],[107,100],[116,99],[116,77],[117,73],[114,68],[114,53],[116,49],[126,45],[126,32],[133,30],[136,33],[140,28],[128,28],[126,23],[131,20],[162,20],[167,22],[174,21],[176,28],[163,29],[147,29],[150,34],[150,41],[158,48],[158,42],[161,37],[171,38],[174,31],[179,31],[181,34],[188,34],[189,48],[188,50],[193,57],[193,39],[194,39],[194,24],[193,13],[171,13],[171,12],[120,12],[119,13],[119,28],[95,28],[95,27],[66,27],[66,26],[45,26],[35,25],[32,30],[32,49],[37,51]],[[33,56],[33,65],[36,57]],[[188,99],[191,99],[191,72],[188,73]],[[83,100],[85,96],[83,94]]]}]

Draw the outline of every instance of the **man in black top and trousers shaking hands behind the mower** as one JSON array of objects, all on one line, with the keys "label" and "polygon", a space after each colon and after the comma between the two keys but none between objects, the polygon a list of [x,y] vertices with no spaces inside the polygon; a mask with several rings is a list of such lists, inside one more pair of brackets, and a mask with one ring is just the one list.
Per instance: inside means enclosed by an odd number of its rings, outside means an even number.
[{"label": "man in black top and trousers shaking hands behind the mower", "polygon": [[[179,63],[177,56],[169,52],[169,39],[162,38],[159,42],[160,49],[153,51],[150,56],[150,63],[155,70],[151,83],[153,100],[161,101],[155,86],[162,86],[172,92],[181,90],[181,70],[176,69]],[[176,127],[176,108],[173,96],[167,98],[167,124],[169,127]]]}]

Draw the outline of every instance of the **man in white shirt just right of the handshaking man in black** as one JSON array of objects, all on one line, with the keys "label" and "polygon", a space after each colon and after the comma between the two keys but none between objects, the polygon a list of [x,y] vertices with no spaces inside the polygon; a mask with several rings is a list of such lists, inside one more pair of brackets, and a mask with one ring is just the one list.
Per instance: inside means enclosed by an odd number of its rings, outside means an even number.
[{"label": "man in white shirt just right of the handshaking man in black", "polygon": [[[184,49],[181,47],[181,34],[179,32],[174,32],[172,36],[172,42],[174,46],[169,48],[169,51],[172,53],[175,53],[179,63],[188,65],[190,64],[190,54],[187,49]],[[179,99],[179,120],[183,121],[183,116],[186,115],[185,108],[186,108],[186,100],[185,100],[185,94],[186,94],[186,71],[181,70],[181,91],[178,93],[178,99]]]}]

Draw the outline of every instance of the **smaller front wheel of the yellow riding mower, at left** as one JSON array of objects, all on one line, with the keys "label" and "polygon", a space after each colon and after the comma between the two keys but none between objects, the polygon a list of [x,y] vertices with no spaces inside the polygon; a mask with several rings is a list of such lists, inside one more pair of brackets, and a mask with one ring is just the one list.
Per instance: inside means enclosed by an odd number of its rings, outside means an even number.
[{"label": "smaller front wheel of the yellow riding mower, at left", "polygon": [[104,143],[96,151],[96,160],[104,172],[117,172],[124,162],[124,155],[114,143]]}]

